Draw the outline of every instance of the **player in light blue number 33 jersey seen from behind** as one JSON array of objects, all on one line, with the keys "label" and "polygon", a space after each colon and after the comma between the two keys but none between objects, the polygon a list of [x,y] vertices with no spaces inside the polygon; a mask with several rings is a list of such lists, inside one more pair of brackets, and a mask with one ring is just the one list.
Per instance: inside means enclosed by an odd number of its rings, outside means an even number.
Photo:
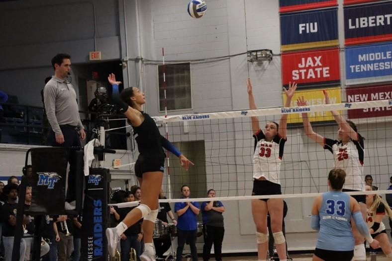
[{"label": "player in light blue number 33 jersey seen from behind", "polygon": [[344,170],[332,169],[328,174],[329,192],[314,200],[311,228],[319,232],[313,261],[351,261],[354,257],[352,218],[369,245],[379,248],[379,242],[372,238],[363,219],[358,201],[342,192],[345,178]]}]

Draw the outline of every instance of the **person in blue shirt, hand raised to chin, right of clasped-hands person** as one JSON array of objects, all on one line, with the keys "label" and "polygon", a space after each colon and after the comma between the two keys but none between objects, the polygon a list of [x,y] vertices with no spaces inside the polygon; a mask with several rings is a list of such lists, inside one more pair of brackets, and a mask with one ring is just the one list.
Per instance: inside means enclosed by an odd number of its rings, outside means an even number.
[{"label": "person in blue shirt, hand raised to chin, right of clasped-hands person", "polygon": [[[209,190],[208,197],[215,197],[215,191]],[[212,198],[211,198],[212,199]],[[224,236],[223,215],[224,206],[220,201],[207,201],[201,203],[203,215],[203,261],[209,260],[212,244],[214,244],[215,260],[222,260],[222,241]]]}]

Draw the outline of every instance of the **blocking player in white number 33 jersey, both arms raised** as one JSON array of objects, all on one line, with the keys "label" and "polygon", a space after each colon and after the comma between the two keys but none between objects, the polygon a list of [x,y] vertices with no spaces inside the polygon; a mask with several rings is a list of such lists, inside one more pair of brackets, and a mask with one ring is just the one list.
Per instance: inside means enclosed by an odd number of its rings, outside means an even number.
[{"label": "blocking player in white number 33 jersey, both arms raised", "polygon": [[[249,108],[255,110],[252,84],[247,80]],[[287,96],[285,107],[290,107],[296,84],[283,88]],[[252,195],[281,195],[280,170],[283,150],[287,140],[287,114],[282,115],[279,125],[267,122],[265,132],[259,127],[257,117],[251,117],[255,152],[253,156],[253,190]],[[267,212],[271,216],[271,229],[275,240],[279,260],[286,261],[286,239],[282,232],[283,199],[252,199],[252,216],[256,225],[257,252],[259,261],[266,261],[268,252]]]}]

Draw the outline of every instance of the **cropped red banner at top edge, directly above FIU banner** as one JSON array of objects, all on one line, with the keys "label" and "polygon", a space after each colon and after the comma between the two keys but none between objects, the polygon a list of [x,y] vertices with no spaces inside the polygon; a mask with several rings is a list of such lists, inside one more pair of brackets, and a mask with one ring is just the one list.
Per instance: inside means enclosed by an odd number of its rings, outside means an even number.
[{"label": "cropped red banner at top edge, directly above FIU banner", "polygon": [[337,0],[279,0],[279,12],[293,12],[336,5],[338,5]]}]

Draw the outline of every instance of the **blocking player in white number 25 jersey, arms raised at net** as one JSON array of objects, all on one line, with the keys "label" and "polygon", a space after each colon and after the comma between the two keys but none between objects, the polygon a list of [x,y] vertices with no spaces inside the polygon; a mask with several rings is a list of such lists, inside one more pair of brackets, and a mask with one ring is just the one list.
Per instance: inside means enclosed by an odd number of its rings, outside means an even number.
[{"label": "blocking player in white number 25 jersey, arms raised at net", "polygon": [[[328,93],[323,90],[325,103],[330,104]],[[306,106],[303,96],[297,100],[298,106]],[[343,169],[346,172],[346,182],[343,192],[348,191],[365,191],[365,182],[363,178],[363,161],[364,161],[364,138],[357,132],[354,123],[346,121],[336,111],[331,111],[336,123],[339,125],[339,140],[330,139],[321,136],[313,131],[307,113],[302,113],[303,128],[306,135],[320,144],[324,149],[329,150],[335,160],[335,168]],[[365,195],[353,196],[360,204],[361,213],[366,220],[366,197]],[[353,234],[355,239],[354,260],[366,261],[366,250],[364,238],[352,222]]]}]

